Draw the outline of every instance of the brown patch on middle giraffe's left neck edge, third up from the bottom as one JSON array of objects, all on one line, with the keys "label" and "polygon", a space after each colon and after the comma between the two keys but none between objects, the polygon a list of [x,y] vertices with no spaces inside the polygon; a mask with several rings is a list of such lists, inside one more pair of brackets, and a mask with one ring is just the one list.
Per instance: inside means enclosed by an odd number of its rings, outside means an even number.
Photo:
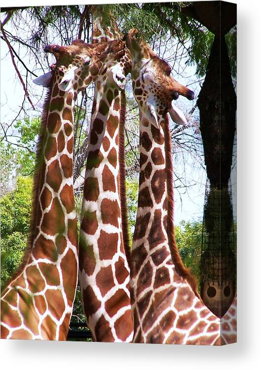
[{"label": "brown patch on middle giraffe's left neck edge, third up from the bottom", "polygon": [[96,259],[93,252],[93,246],[88,245],[80,233],[79,240],[79,270],[85,271],[87,275],[91,276],[96,266]]}]

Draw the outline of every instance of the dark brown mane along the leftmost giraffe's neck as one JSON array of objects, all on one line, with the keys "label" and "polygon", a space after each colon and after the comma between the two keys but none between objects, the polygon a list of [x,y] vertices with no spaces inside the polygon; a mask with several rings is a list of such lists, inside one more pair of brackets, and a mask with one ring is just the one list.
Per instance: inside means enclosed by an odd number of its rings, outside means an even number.
[{"label": "dark brown mane along the leftmost giraffe's neck", "polygon": [[34,172],[34,180],[33,180],[33,190],[32,190],[32,210],[31,210],[31,219],[30,219],[30,228],[29,228],[29,235],[27,238],[27,246],[24,252],[23,259],[15,271],[15,273],[12,275],[10,279],[7,280],[6,284],[4,285],[2,291],[13,281],[15,280],[24,270],[25,266],[27,265],[32,249],[33,249],[33,241],[35,237],[36,232],[36,222],[37,222],[37,200],[39,196],[39,184],[40,184],[40,165],[41,165],[41,158],[42,158],[42,150],[43,150],[43,142],[44,142],[44,134],[45,134],[45,128],[47,123],[47,115],[49,111],[49,103],[51,99],[51,92],[53,88],[53,78],[50,84],[50,87],[47,89],[47,93],[45,95],[44,104],[43,104],[43,110],[41,115],[41,126],[39,130],[39,136],[37,140],[37,147],[36,147],[36,160],[35,160],[35,172]]}]

